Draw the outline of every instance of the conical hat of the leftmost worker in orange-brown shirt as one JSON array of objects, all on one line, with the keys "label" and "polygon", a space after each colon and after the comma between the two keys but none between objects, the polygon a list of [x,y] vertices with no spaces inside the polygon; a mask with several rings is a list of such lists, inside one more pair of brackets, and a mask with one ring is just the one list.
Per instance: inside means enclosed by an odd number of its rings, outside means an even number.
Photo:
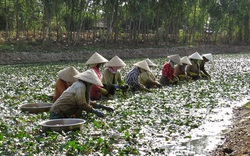
[{"label": "conical hat of the leftmost worker in orange-brown shirt", "polygon": [[79,74],[79,72],[74,67],[67,67],[58,72],[58,77],[63,81],[73,83],[77,80],[74,78],[77,74]]}]

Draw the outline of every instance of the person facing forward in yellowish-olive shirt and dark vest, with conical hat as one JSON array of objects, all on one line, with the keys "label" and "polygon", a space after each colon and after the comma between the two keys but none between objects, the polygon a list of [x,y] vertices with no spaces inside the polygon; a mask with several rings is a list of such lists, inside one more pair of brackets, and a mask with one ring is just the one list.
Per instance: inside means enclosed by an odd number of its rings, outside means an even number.
[{"label": "person facing forward in yellowish-olive shirt and dark vest, with conical hat", "polygon": [[105,66],[108,68],[103,72],[102,83],[110,95],[114,95],[117,89],[121,89],[123,94],[128,90],[128,86],[123,86],[120,69],[126,64],[118,57],[114,56]]}]

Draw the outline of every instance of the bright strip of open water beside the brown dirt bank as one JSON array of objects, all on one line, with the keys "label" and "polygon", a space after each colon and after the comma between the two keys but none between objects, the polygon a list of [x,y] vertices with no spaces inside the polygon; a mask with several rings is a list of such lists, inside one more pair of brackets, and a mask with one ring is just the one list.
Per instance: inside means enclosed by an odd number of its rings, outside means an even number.
[{"label": "bright strip of open water beside the brown dirt bank", "polygon": [[223,134],[230,129],[232,123],[233,108],[240,107],[248,101],[247,98],[240,102],[229,103],[229,107],[220,107],[206,117],[204,123],[197,129],[191,131],[191,139],[185,143],[189,151],[198,155],[209,155],[216,145],[223,142]]}]

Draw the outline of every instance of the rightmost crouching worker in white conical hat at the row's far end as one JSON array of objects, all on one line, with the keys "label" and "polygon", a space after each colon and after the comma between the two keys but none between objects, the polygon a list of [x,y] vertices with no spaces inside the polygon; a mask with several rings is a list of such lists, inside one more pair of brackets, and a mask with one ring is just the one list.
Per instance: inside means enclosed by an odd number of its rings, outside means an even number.
[{"label": "rightmost crouching worker in white conical hat at the row's far end", "polygon": [[202,58],[203,60],[200,62],[200,70],[201,70],[202,77],[205,79],[211,79],[211,76],[205,70],[205,63],[210,61],[212,62],[214,66],[213,55],[211,53],[203,54]]}]

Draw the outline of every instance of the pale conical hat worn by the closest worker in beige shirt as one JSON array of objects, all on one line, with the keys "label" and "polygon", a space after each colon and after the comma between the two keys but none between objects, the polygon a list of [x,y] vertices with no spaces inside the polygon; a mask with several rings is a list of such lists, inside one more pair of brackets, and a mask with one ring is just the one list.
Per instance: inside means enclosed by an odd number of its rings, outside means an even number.
[{"label": "pale conical hat worn by the closest worker in beige shirt", "polygon": [[98,78],[93,69],[88,69],[80,74],[75,75],[74,77],[91,84],[103,86],[101,80]]}]

